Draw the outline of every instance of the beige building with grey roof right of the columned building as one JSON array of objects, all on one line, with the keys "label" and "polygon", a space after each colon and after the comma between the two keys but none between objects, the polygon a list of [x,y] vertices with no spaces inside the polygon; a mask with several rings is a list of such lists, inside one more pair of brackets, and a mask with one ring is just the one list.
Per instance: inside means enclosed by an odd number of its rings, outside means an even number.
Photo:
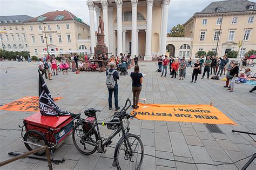
[{"label": "beige building with grey roof right of the columned building", "polygon": [[224,56],[234,50],[240,57],[256,50],[255,8],[256,3],[250,1],[228,0],[212,2],[196,12],[184,24],[185,37],[192,37],[191,56],[198,51],[216,50],[218,56]]}]

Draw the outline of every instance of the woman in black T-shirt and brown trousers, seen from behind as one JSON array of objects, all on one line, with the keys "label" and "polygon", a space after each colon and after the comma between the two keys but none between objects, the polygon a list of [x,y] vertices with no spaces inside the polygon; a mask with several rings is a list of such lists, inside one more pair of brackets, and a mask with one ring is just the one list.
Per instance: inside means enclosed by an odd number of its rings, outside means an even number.
[{"label": "woman in black T-shirt and brown trousers, seen from behind", "polygon": [[133,94],[133,105],[132,108],[137,109],[139,103],[139,94],[142,91],[143,75],[139,72],[139,66],[134,66],[134,72],[131,72],[132,78],[132,94]]}]

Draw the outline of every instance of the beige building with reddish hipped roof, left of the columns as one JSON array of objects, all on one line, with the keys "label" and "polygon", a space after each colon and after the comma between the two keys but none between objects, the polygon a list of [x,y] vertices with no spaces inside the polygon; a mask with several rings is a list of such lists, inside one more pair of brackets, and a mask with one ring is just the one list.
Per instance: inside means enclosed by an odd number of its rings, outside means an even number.
[{"label": "beige building with reddish hipped roof, left of the columns", "polygon": [[24,23],[31,56],[43,56],[56,52],[90,52],[88,44],[78,43],[90,38],[90,26],[71,12],[53,11],[30,19]]}]

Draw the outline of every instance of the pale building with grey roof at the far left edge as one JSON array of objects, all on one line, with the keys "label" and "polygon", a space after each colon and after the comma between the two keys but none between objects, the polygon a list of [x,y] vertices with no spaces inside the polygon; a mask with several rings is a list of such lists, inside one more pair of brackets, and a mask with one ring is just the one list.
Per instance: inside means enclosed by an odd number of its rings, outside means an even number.
[{"label": "pale building with grey roof at the far left edge", "polygon": [[0,49],[29,51],[28,37],[23,22],[32,18],[28,15],[0,16]]}]

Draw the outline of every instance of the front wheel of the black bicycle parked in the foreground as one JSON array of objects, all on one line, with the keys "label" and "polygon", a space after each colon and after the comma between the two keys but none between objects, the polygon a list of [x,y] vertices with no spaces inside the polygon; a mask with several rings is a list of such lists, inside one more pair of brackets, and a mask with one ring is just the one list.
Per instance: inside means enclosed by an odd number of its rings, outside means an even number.
[{"label": "front wheel of the black bicycle parked in the foreground", "polygon": [[139,169],[142,166],[144,148],[137,135],[128,134],[127,140],[123,138],[117,153],[117,169]]}]

